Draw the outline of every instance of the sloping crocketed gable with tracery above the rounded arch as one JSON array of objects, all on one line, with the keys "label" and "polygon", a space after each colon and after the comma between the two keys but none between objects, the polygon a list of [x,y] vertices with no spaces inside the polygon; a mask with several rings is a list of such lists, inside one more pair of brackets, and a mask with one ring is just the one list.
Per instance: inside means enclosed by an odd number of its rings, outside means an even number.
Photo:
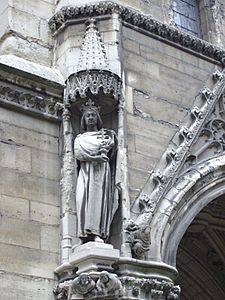
[{"label": "sloping crocketed gable with tracery above the rounded arch", "polygon": [[[138,215],[134,224],[138,224],[139,220],[143,219],[142,228],[147,224],[151,226],[154,210],[148,211],[146,205],[143,206],[142,199],[144,195],[144,199],[148,199],[147,203],[154,203],[154,208],[157,208],[158,203],[177,181],[181,172],[184,172],[187,167],[193,167],[193,164],[220,155],[223,152],[225,134],[223,120],[224,73],[216,71],[212,75],[212,79],[217,80],[214,88],[210,90],[206,87],[201,91],[196,99],[197,105],[195,104],[191,110],[186,124],[179,129],[173,138],[156,170],[150,176],[134,204],[133,216]],[[203,104],[201,105],[201,103]],[[203,135],[204,138],[202,139]],[[199,147],[199,143],[201,147]],[[196,152],[195,145],[199,149],[198,152]],[[207,152],[207,156],[204,158],[208,149],[211,152]],[[166,213],[170,213],[169,207]]]}]

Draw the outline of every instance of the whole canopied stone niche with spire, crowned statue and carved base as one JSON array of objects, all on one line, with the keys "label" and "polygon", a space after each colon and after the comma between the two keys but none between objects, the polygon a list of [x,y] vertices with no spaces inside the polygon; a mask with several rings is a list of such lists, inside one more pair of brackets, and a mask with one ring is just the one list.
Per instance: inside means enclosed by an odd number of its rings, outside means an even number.
[{"label": "whole canopied stone niche with spire, crowned statue and carved base", "polygon": [[149,226],[129,219],[121,77],[109,68],[96,20],[86,25],[60,106],[62,261],[55,298],[165,299],[179,294],[176,269],[147,261]]}]

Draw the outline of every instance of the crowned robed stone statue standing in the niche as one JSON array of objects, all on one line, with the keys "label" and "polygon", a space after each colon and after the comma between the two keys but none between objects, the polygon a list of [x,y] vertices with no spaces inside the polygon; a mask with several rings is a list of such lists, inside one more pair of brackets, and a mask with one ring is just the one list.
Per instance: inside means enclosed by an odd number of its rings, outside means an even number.
[{"label": "crowned robed stone statue standing in the niche", "polygon": [[115,191],[115,151],[113,130],[103,129],[99,108],[89,101],[82,106],[81,134],[74,141],[78,160],[76,207],[78,237],[103,242],[117,209]]}]

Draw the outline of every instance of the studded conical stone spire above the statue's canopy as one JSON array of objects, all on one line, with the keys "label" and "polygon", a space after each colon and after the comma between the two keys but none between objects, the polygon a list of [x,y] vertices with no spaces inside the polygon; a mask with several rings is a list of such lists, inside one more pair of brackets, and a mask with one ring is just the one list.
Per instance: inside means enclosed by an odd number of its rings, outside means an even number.
[{"label": "studded conical stone spire above the statue's canopy", "polygon": [[86,25],[86,33],[80,48],[78,72],[91,69],[110,71],[105,46],[96,26],[96,20],[90,18]]}]

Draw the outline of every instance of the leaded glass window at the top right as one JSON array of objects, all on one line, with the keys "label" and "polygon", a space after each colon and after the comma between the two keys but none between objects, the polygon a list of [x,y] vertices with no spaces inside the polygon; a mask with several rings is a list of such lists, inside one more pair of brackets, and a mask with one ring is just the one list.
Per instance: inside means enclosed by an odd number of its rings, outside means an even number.
[{"label": "leaded glass window at the top right", "polygon": [[197,0],[172,0],[172,10],[177,27],[192,35],[201,36]]}]

